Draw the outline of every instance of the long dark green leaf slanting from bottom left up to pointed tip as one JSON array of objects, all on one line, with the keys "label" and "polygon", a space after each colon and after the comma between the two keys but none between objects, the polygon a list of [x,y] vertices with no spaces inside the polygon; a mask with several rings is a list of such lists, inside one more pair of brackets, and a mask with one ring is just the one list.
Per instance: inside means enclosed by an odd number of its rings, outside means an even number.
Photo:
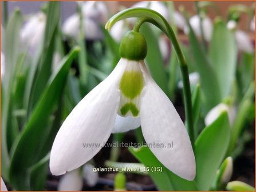
[{"label": "long dark green leaf slanting from bottom left up to pointed tip", "polygon": [[10,181],[17,190],[30,190],[28,169],[40,160],[41,151],[38,151],[37,147],[41,142],[45,142],[42,141],[41,135],[49,129],[47,123],[59,101],[71,62],[78,51],[78,48],[74,48],[62,59],[60,69],[49,80],[44,94],[21,133],[10,166]]}]

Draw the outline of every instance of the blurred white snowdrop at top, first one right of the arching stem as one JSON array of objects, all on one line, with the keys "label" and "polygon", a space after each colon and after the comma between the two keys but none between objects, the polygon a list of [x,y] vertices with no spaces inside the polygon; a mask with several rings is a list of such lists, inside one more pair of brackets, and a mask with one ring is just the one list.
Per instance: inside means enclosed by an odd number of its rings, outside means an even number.
[{"label": "blurred white snowdrop at top, first one right of the arching stem", "polygon": [[[201,30],[200,30],[200,17],[199,15],[194,15],[193,17],[190,18],[190,25],[192,29],[195,32],[195,35],[197,37],[201,37]],[[211,34],[212,34],[212,22],[211,19],[208,17],[205,17],[202,19],[202,28],[203,28],[203,34],[204,38],[206,41],[211,40]],[[184,33],[188,34],[189,33],[189,27],[185,26],[184,27]]]}]

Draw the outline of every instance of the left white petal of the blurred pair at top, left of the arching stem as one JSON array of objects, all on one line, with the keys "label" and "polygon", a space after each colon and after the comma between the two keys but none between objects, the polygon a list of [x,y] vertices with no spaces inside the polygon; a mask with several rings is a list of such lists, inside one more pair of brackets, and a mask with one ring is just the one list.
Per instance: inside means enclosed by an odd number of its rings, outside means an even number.
[{"label": "left white petal of the blurred pair at top, left of the arching stem", "polygon": [[73,14],[63,24],[62,31],[70,37],[77,37],[79,31],[79,15]]}]

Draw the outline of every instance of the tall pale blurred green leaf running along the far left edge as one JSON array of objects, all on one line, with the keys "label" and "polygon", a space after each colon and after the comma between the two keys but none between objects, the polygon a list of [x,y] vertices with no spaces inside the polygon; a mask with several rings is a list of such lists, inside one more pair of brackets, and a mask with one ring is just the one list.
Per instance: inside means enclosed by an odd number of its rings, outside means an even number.
[{"label": "tall pale blurred green leaf running along the far left edge", "polygon": [[[2,79],[2,91],[5,95],[5,102],[2,102],[2,121],[1,121],[1,174],[9,180],[10,159],[7,146],[7,131],[12,130],[11,127],[11,108],[12,108],[12,91],[13,79],[16,70],[19,49],[19,30],[22,25],[22,15],[19,10],[15,10],[7,23],[5,33],[5,67],[6,72]],[[7,129],[8,127],[8,129]]]}]

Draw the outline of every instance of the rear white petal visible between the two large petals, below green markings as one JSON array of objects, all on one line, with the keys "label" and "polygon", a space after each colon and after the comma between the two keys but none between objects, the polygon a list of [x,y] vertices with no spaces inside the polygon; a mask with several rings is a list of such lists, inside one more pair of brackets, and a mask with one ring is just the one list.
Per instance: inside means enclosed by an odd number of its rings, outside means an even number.
[{"label": "rear white petal visible between the two large petals, below green markings", "polygon": [[122,133],[140,126],[140,117],[133,118],[131,116],[121,117],[116,115],[115,127],[112,133]]}]

